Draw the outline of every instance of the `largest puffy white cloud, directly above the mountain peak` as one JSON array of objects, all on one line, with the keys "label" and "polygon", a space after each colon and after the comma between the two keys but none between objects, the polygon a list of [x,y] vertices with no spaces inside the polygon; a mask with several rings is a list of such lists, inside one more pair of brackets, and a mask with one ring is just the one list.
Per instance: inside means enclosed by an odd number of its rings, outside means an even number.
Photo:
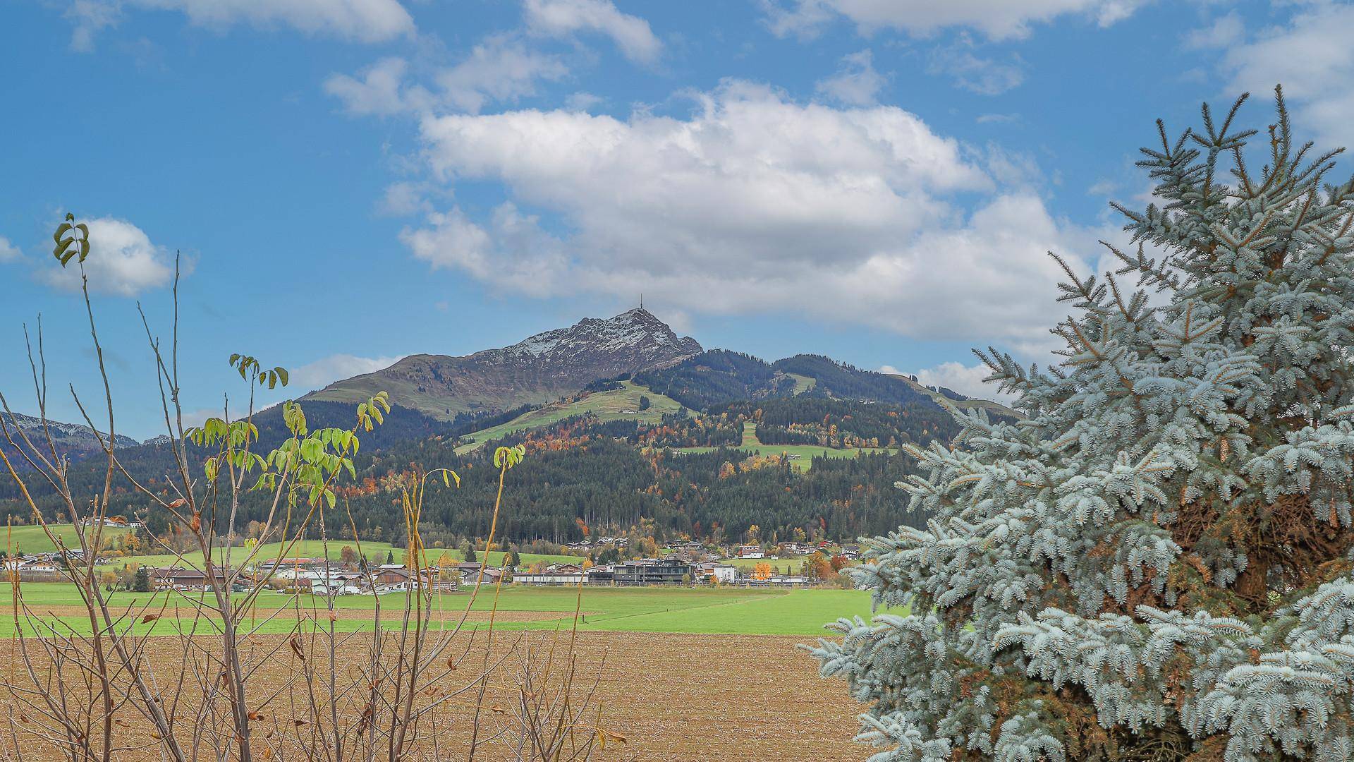
[{"label": "largest puffy white cloud, directly above the mountain peak", "polygon": [[[431,214],[402,240],[504,290],[642,290],[705,313],[796,305],[1041,347],[1063,316],[1045,252],[1075,262],[1094,245],[896,107],[802,104],[728,81],[688,118],[523,110],[428,115],[420,129],[436,178],[501,182],[510,203],[485,222],[459,207]],[[965,212],[956,197],[975,191]]]}]

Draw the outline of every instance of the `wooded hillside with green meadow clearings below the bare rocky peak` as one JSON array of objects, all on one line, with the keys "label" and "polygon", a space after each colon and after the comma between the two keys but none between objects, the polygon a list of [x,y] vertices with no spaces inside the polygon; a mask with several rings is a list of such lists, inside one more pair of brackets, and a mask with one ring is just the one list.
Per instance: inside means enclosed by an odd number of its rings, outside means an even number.
[{"label": "wooded hillside with green meadow clearings below the bare rocky peak", "polygon": [[[538,348],[527,342],[513,351]],[[768,363],[715,350],[593,380],[544,405],[464,411],[444,420],[395,404],[375,430],[360,433],[356,479],[341,485],[344,502],[326,513],[325,525],[332,536],[351,536],[351,511],[364,538],[399,542],[401,489],[420,473],[452,468],[462,485],[428,492],[425,538],[455,544],[482,537],[497,487],[489,460],[494,447],[474,447],[520,442],[528,454],[512,473],[516,487],[508,491],[498,530],[510,541],[566,542],[593,532],[718,541],[739,538],[753,525],[764,538],[883,533],[921,521],[906,514],[892,487],[909,468],[898,447],[949,442],[957,434],[936,396],[907,378],[821,355]],[[301,405],[311,430],[351,428],[356,420],[352,403],[306,397]],[[280,407],[256,414],[253,423],[257,453],[287,437]],[[129,446],[119,457],[152,488],[162,489],[176,469],[165,439]],[[188,447],[194,475],[204,457]],[[102,491],[103,479],[100,458],[70,470],[81,489]],[[56,515],[56,495],[43,494],[42,484],[34,488],[42,510]],[[15,498],[14,483],[0,476],[0,514],[31,521]],[[152,530],[162,530],[165,517],[146,507],[130,481],[115,475],[112,513],[144,515]],[[246,498],[240,526],[261,519],[268,507],[261,498]]]}]

